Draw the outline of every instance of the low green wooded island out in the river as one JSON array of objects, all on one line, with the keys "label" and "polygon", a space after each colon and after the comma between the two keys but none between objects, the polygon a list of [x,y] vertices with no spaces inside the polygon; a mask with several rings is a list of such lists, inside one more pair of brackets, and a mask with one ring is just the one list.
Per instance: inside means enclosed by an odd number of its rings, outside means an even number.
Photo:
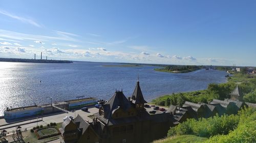
[{"label": "low green wooded island out in the river", "polygon": [[169,65],[161,69],[154,69],[161,72],[172,72],[172,73],[186,73],[195,70],[202,69],[203,66],[184,66],[184,65]]}]

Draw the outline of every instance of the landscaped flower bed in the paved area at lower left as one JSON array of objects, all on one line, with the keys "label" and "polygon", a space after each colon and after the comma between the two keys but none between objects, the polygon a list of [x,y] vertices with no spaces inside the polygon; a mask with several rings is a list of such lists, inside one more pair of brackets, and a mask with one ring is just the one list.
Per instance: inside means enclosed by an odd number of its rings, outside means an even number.
[{"label": "landscaped flower bed in the paved area at lower left", "polygon": [[35,130],[35,135],[38,139],[48,138],[59,134],[59,130],[55,127],[47,127]]}]

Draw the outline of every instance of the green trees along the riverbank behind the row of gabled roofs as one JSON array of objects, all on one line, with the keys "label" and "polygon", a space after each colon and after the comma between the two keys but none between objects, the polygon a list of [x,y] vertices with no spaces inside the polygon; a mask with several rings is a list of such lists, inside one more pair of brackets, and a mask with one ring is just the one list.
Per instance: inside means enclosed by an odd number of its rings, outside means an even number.
[{"label": "green trees along the riverbank behind the row of gabled roofs", "polygon": [[[208,88],[203,91],[194,91],[186,93],[176,93],[172,95],[165,95],[154,99],[152,102],[157,105],[169,106],[178,105],[184,101],[190,101],[194,103],[203,102],[208,103],[212,99],[224,100],[225,98],[230,98],[229,94],[239,85],[239,89],[243,93],[243,100],[245,102],[256,103],[256,77],[250,77],[248,75],[234,74],[229,77],[229,80],[235,79],[239,84],[233,81],[228,81],[227,83],[211,83]],[[242,83],[241,83],[242,82]]]}]

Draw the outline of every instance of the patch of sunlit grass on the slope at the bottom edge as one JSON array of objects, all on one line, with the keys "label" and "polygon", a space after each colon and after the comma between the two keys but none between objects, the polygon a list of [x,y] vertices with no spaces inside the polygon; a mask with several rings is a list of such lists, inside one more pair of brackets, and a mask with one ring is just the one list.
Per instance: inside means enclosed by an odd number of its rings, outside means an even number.
[{"label": "patch of sunlit grass on the slope at the bottom edge", "polygon": [[155,140],[153,143],[204,142],[208,138],[195,135],[179,135]]}]

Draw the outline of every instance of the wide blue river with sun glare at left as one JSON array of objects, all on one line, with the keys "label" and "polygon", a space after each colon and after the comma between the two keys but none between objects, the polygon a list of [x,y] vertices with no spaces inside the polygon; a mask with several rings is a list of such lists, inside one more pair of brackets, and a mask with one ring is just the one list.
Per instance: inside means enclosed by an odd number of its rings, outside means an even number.
[{"label": "wide blue river with sun glare at left", "polygon": [[0,62],[0,115],[3,115],[7,106],[49,103],[49,97],[53,101],[76,99],[76,96],[81,95],[109,99],[116,89],[123,89],[125,96],[131,96],[138,74],[141,90],[147,101],[165,94],[203,90],[212,82],[226,82],[226,73],[218,70],[172,74],[156,72],[153,66],[102,65],[106,63]]}]

